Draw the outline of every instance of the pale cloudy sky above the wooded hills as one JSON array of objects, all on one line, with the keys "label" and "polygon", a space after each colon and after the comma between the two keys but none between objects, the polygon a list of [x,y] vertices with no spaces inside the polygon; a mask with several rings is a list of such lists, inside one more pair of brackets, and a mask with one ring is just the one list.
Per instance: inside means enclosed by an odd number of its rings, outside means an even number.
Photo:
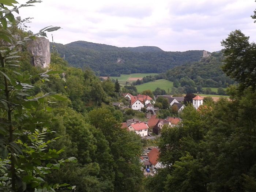
[{"label": "pale cloudy sky above the wooded hills", "polygon": [[28,24],[34,33],[60,26],[47,35],[61,44],[89,41],[214,52],[236,29],[256,41],[256,23],[250,17],[254,0],[42,0],[34,5],[20,8],[19,16],[34,18]]}]

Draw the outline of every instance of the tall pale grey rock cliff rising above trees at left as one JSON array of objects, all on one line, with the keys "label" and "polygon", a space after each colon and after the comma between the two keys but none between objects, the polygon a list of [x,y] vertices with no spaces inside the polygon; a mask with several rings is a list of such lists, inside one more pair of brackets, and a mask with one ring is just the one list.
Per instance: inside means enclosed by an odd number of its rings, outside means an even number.
[{"label": "tall pale grey rock cliff rising above trees at left", "polygon": [[50,42],[44,37],[38,37],[30,41],[27,50],[32,54],[31,64],[37,67],[46,68],[50,64]]}]

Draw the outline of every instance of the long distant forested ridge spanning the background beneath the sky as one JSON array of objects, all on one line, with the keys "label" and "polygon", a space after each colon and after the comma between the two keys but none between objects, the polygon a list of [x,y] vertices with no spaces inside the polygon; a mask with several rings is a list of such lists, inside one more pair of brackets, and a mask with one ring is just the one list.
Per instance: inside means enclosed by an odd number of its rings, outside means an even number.
[{"label": "long distant forested ridge spanning the background beneath the sky", "polygon": [[161,73],[185,63],[199,61],[203,56],[202,50],[165,52],[155,46],[119,48],[86,41],[54,45],[60,56],[72,66],[90,67],[102,76]]}]

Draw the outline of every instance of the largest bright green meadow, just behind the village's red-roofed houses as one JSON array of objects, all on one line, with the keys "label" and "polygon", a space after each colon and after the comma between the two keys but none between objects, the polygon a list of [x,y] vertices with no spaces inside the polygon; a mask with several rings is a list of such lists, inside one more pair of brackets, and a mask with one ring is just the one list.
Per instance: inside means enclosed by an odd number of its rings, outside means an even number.
[{"label": "largest bright green meadow, just behind the village's red-roofed houses", "polygon": [[159,87],[160,89],[164,89],[166,91],[166,93],[172,90],[173,87],[173,82],[166,80],[166,79],[159,79],[159,80],[155,80],[155,81],[151,81],[148,83],[143,83],[141,85],[136,85],[138,92],[142,92],[144,90],[151,90],[154,91],[155,89],[157,89],[157,87]]}]

